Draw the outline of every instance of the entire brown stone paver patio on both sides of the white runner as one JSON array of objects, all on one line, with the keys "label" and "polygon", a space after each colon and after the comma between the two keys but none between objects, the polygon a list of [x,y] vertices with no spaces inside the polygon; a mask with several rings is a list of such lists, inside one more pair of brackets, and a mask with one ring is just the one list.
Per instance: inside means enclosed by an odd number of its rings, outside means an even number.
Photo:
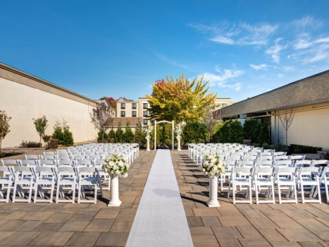
[{"label": "entire brown stone paver patio on both sides of the white runner", "polygon": [[[170,152],[194,246],[329,246],[328,204],[233,205],[225,192],[209,208],[209,179]],[[0,246],[125,246],[155,154],[141,150],[120,179],[117,208],[109,191],[97,204],[0,203]]]}]

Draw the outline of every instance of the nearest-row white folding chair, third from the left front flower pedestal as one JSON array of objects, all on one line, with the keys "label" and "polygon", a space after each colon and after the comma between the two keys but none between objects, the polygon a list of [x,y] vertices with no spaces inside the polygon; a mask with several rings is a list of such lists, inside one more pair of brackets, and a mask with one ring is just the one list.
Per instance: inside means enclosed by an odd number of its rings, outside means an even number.
[{"label": "nearest-row white folding chair, third from the left front flower pedestal", "polygon": [[[35,198],[34,202],[53,203],[55,189],[55,174],[52,167],[35,167]],[[46,192],[49,192],[49,199],[38,199],[37,194],[41,198],[45,197]]]}]

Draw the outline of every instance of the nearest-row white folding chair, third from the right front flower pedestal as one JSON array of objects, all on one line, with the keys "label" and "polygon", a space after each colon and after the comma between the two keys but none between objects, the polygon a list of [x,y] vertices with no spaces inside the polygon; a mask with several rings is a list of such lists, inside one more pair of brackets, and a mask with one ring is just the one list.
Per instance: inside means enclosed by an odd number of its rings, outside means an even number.
[{"label": "nearest-row white folding chair, third from the right front flower pedestal", "polygon": [[[279,203],[298,203],[297,202],[297,188],[296,188],[296,174],[294,167],[277,167],[275,175],[275,183],[278,185]],[[288,188],[287,198],[292,190],[292,200],[282,200],[281,191]],[[274,196],[274,195],[273,195]]]}]

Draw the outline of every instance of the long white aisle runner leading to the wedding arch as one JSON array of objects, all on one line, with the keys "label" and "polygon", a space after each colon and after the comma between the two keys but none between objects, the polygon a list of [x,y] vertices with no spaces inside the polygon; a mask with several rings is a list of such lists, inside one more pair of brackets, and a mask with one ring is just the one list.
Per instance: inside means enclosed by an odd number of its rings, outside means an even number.
[{"label": "long white aisle runner leading to the wedding arch", "polygon": [[169,150],[158,150],[126,246],[193,246]]}]

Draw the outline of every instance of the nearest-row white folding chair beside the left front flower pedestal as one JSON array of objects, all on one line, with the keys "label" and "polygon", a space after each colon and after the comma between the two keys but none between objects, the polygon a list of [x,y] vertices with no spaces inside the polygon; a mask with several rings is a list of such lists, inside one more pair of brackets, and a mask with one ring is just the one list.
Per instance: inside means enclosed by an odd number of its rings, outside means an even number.
[{"label": "nearest-row white folding chair beside the left front flower pedestal", "polygon": [[[97,190],[98,187],[101,191],[101,196],[103,196],[103,191],[101,190],[101,184],[99,183],[99,174],[97,169],[94,167],[77,167],[77,203],[97,203]],[[87,186],[87,188],[86,188]],[[94,186],[94,190],[92,190]],[[94,193],[94,200],[82,200],[85,198],[86,190],[89,193]]]}]

